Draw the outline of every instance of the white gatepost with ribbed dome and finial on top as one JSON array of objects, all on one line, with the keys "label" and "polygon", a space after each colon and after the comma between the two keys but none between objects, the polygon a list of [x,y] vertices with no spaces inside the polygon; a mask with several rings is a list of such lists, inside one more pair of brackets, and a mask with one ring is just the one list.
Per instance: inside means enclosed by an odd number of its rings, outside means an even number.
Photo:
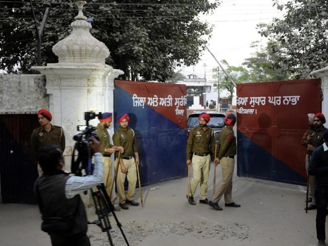
[{"label": "white gatepost with ribbed dome and finial on top", "polygon": [[[53,124],[62,126],[66,135],[66,169],[74,147],[77,125],[85,125],[84,112],[113,112],[114,78],[123,71],[105,64],[110,52],[106,45],[90,34],[91,24],[83,14],[84,1],[77,1],[78,15],[71,24],[72,32],[52,48],[58,63],[32,67],[46,75],[49,107]],[[90,121],[96,126],[98,120]],[[67,158],[69,157],[69,158]]]}]

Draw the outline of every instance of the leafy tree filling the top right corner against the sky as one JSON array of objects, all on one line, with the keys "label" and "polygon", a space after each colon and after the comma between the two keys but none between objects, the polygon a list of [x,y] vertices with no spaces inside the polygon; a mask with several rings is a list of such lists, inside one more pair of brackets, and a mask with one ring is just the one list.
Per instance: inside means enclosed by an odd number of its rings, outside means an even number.
[{"label": "leafy tree filling the top right corner against the sky", "polygon": [[274,5],[286,12],[271,24],[260,24],[259,33],[271,40],[276,66],[295,78],[308,78],[325,66],[328,54],[328,3],[323,0],[294,0]]}]

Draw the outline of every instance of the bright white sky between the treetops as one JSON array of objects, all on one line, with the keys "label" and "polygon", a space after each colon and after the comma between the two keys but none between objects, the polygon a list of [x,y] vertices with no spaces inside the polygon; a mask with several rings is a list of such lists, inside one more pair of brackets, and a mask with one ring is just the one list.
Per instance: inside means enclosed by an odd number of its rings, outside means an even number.
[{"label": "bright white sky between the treetops", "polygon": [[[280,3],[284,2],[286,0],[280,0]],[[283,12],[272,5],[272,0],[222,0],[212,15],[201,16],[201,20],[214,25],[208,47],[216,58],[240,66],[254,53],[255,50],[250,48],[252,42],[258,40],[265,46],[267,39],[258,33],[257,24],[270,23],[272,18],[283,16]],[[206,73],[207,80],[212,80],[212,69],[217,66],[212,55],[205,50],[196,66],[182,67],[180,72],[196,74],[200,78]]]}]

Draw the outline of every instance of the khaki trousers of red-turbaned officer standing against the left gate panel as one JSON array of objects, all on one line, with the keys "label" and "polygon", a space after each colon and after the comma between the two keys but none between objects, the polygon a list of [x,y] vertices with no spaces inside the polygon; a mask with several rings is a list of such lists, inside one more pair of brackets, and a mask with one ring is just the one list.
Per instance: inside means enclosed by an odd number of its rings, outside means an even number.
[{"label": "khaki trousers of red-turbaned officer standing against the left gate panel", "polygon": [[[118,160],[118,159],[117,159]],[[117,161],[116,160],[116,161]],[[135,192],[135,187],[137,185],[137,172],[136,172],[136,164],[134,158],[132,157],[130,160],[122,159],[124,166],[128,169],[128,174],[122,173],[120,165],[118,165],[118,172],[117,172],[117,193],[119,197],[119,203],[125,203],[126,200],[132,201],[133,195]],[[125,178],[128,178],[129,188],[127,195],[125,194],[124,190],[124,182]]]}]

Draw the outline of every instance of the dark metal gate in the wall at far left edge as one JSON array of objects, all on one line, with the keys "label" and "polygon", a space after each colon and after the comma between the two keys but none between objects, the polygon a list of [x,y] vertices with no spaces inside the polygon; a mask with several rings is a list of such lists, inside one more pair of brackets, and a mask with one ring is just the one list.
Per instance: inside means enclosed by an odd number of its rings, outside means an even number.
[{"label": "dark metal gate in the wall at far left edge", "polygon": [[30,156],[30,136],[38,127],[35,114],[0,115],[0,179],[3,203],[36,204],[33,193],[36,163]]}]

